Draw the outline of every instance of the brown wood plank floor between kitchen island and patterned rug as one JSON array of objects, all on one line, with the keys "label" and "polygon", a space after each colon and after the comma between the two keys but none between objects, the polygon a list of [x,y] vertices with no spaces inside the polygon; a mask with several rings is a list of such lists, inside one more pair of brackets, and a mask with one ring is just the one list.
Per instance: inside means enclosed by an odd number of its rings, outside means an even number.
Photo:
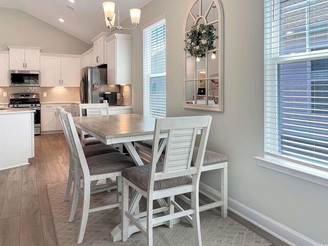
[{"label": "brown wood plank floor between kitchen island and patterned rug", "polygon": [[35,136],[29,162],[0,171],[0,246],[57,245],[46,186],[67,180],[64,134]]}]

